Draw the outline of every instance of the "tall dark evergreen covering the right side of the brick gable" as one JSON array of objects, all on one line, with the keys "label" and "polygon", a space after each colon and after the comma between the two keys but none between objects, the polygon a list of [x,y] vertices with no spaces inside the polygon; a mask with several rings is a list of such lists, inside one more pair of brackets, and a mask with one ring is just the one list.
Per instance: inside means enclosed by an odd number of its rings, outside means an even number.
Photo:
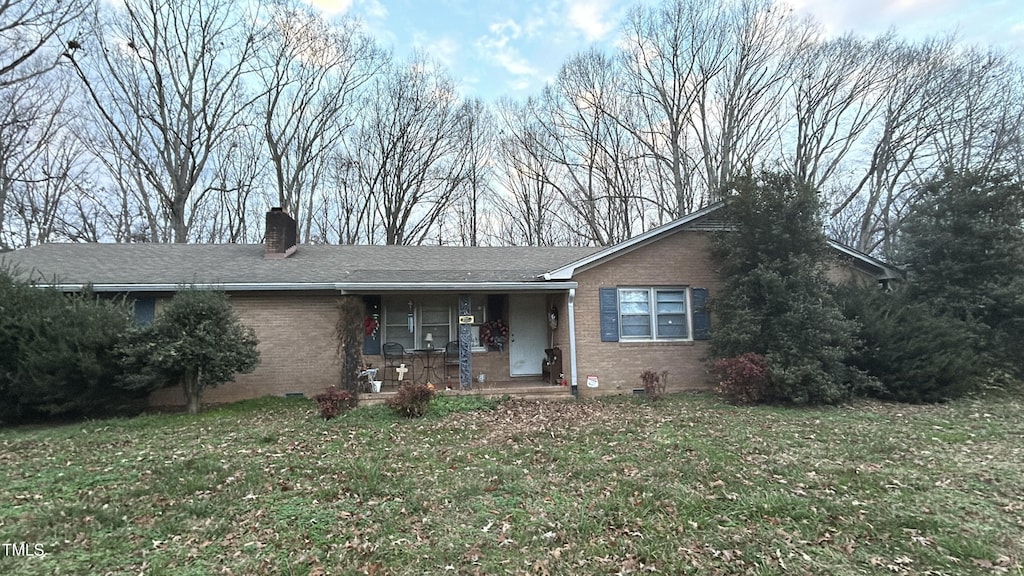
[{"label": "tall dark evergreen covering the right side of the brick gable", "polygon": [[731,186],[735,230],[716,235],[725,282],[712,301],[713,359],[765,358],[763,402],[835,404],[857,385],[846,364],[856,325],[833,298],[820,201],[792,176],[762,172]]}]

